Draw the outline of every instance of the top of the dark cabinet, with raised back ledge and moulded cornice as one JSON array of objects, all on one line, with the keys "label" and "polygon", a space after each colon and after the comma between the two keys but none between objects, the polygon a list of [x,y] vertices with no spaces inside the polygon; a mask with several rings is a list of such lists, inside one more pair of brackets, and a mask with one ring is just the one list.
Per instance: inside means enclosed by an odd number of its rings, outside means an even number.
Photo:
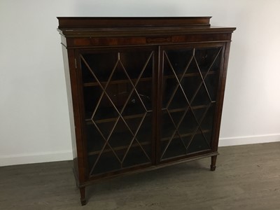
[{"label": "top of the dark cabinet, with raised back ledge and moulded cornice", "polygon": [[212,27],[211,17],[57,18],[66,37],[147,36],[163,34],[232,33],[234,27]]}]

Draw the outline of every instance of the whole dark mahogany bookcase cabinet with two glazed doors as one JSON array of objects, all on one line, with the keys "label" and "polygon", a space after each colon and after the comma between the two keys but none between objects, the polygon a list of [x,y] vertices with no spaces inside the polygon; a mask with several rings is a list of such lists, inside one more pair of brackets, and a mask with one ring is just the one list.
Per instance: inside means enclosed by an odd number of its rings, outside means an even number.
[{"label": "whole dark mahogany bookcase cabinet with two glazed doors", "polygon": [[234,27],[210,17],[58,20],[82,204],[100,179],[207,157],[215,170]]}]

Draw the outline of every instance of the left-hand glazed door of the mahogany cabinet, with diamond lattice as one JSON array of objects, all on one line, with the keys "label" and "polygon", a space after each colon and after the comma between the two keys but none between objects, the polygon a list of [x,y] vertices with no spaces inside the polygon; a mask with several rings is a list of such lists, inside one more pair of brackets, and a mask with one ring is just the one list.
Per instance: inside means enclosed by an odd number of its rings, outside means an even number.
[{"label": "left-hand glazed door of the mahogany cabinet, with diamond lattice", "polygon": [[154,161],[155,48],[78,50],[89,178]]}]

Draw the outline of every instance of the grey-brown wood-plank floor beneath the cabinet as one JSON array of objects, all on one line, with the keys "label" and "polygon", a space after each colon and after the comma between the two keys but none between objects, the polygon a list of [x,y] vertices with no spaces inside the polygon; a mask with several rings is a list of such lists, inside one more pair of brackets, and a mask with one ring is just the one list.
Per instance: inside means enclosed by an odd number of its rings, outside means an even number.
[{"label": "grey-brown wood-plank floor beneath the cabinet", "polygon": [[0,209],[280,209],[280,142],[219,148],[210,158],[102,181],[80,206],[71,161],[0,167]]}]

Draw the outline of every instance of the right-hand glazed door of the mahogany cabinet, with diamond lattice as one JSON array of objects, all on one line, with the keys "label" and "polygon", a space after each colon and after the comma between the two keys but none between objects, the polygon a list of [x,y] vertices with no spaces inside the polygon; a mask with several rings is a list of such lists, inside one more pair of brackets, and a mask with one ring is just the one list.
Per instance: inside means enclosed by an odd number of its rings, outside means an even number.
[{"label": "right-hand glazed door of the mahogany cabinet, with diamond lattice", "polygon": [[212,150],[223,49],[223,44],[162,47],[160,161]]}]

